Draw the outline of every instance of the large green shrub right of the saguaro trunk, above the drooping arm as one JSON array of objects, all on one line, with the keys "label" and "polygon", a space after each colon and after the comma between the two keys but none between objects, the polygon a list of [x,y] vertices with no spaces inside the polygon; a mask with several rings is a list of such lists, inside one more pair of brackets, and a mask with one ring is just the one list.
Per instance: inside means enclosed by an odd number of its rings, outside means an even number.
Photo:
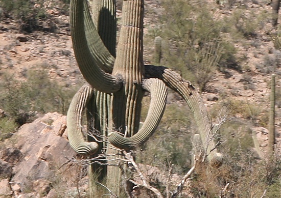
[{"label": "large green shrub right of the saguaro trunk, above the drooping arm", "polygon": [[204,91],[218,67],[235,65],[235,47],[221,37],[221,22],[204,8],[205,2],[164,1],[161,16],[163,65],[180,70]]}]

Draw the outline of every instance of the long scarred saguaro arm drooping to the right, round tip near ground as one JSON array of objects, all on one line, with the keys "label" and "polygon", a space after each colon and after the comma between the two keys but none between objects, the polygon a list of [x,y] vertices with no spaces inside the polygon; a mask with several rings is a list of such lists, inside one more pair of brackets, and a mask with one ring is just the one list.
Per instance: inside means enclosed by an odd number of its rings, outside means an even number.
[{"label": "long scarred saguaro arm drooping to the right, round tip near ground", "polygon": [[[208,117],[202,98],[196,89],[188,80],[182,79],[180,74],[169,68],[146,65],[145,69],[146,77],[154,77],[163,80],[168,87],[179,93],[188,103],[196,121],[203,147],[206,150],[207,159],[210,162],[215,160],[216,164],[221,165],[218,160],[221,160],[222,162],[223,156],[222,154],[218,153],[216,149],[216,143],[213,139],[211,139],[210,135],[212,135],[212,123]],[[217,156],[220,157],[218,158]],[[211,165],[212,164],[213,163],[211,163]]]}]

